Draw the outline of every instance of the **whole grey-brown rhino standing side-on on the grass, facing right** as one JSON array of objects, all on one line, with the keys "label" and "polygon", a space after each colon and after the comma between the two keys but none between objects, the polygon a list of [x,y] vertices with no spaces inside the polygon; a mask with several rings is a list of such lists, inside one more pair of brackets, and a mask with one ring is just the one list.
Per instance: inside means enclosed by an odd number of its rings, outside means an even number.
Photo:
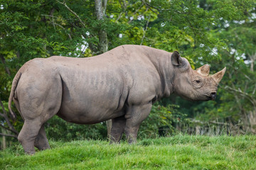
[{"label": "whole grey-brown rhino standing side-on on the grass, facing right", "polygon": [[14,101],[24,120],[18,140],[28,154],[34,147],[50,148],[43,125],[53,115],[79,124],[112,119],[111,142],[125,132],[133,143],[156,100],[173,93],[192,101],[214,99],[225,69],[208,76],[208,68],[193,70],[178,52],[139,45],[90,58],[36,58],[16,74],[9,110]]}]

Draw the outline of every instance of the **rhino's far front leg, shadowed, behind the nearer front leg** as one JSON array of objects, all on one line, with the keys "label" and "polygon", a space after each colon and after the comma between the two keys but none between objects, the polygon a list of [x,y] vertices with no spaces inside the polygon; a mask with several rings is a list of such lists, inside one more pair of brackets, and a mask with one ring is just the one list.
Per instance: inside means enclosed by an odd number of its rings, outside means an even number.
[{"label": "rhino's far front leg, shadowed, behind the nearer front leg", "polygon": [[126,119],[124,118],[124,116],[112,119],[112,128],[110,132],[110,144],[120,142],[122,138],[122,134],[124,132],[125,123],[126,123]]}]

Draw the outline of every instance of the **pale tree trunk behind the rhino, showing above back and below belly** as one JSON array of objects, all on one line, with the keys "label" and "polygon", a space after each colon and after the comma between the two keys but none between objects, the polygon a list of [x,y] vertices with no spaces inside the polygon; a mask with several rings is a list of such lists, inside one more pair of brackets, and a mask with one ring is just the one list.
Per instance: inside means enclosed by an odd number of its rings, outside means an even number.
[{"label": "pale tree trunk behind the rhino, showing above back and below belly", "polygon": [[[104,21],[104,16],[107,9],[107,0],[95,0],[95,14],[97,16],[98,21]],[[104,28],[99,29],[99,50],[100,54],[107,52],[108,44],[107,44],[107,33]],[[112,120],[107,120],[107,138],[110,139],[110,131],[112,127]]]}]

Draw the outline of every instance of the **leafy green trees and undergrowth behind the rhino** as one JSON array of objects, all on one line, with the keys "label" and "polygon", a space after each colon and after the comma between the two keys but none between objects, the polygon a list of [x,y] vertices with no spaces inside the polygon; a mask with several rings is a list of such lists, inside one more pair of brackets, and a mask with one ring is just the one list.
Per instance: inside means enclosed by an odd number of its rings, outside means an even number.
[{"label": "leafy green trees and undergrowth behind the rhino", "polygon": [[[0,142],[16,142],[7,102],[18,69],[35,57],[92,57],[124,44],[178,50],[193,68],[227,67],[216,101],[177,96],[156,103],[139,137],[256,132],[255,0],[0,0]],[[16,111],[17,113],[17,111]],[[46,125],[55,140],[106,139],[105,123]]]}]

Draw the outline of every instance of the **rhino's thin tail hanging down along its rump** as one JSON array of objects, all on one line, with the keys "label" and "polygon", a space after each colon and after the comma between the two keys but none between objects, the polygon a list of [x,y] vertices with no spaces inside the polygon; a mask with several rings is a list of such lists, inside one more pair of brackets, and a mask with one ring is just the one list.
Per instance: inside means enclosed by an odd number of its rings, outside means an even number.
[{"label": "rhino's thin tail hanging down along its rump", "polygon": [[16,87],[18,85],[18,80],[21,78],[21,72],[18,72],[16,74],[16,76],[14,77],[14,80],[12,82],[12,85],[11,85],[11,93],[10,93],[10,96],[9,96],[9,102],[8,102],[8,108],[9,108],[9,111],[12,115],[12,119],[13,120],[16,120],[16,114],[14,113],[14,111],[11,110],[11,101],[13,101],[14,99],[14,95],[15,95],[15,90],[16,90]]}]

